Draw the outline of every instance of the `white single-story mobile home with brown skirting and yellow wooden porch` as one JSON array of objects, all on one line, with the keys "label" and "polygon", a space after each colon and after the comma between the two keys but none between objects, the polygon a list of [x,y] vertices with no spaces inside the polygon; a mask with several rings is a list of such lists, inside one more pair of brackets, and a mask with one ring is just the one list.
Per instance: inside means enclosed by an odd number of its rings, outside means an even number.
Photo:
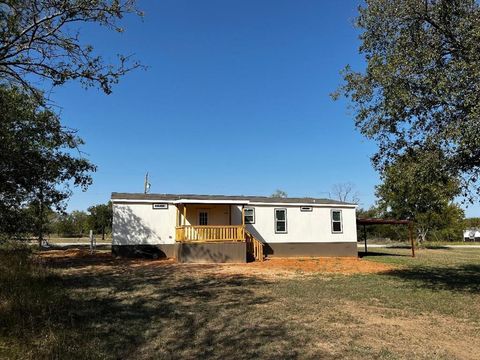
[{"label": "white single-story mobile home with brown skirting and yellow wooden porch", "polygon": [[357,256],[355,204],[316,198],[113,193],[112,252],[180,262]]}]

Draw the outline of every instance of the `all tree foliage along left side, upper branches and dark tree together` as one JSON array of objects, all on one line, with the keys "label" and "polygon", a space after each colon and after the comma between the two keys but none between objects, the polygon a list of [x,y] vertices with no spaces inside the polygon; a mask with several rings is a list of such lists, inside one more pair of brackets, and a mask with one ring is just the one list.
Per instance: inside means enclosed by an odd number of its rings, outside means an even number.
[{"label": "all tree foliage along left side, upper branches and dark tree together", "polygon": [[135,0],[0,2],[0,234],[41,240],[50,210],[65,208],[72,187],[90,185],[95,166],[83,140],[61,125],[38,87],[77,80],[109,94],[141,65],[130,55],[104,61],[80,34],[86,24],[122,32],[127,14],[142,15]]}]

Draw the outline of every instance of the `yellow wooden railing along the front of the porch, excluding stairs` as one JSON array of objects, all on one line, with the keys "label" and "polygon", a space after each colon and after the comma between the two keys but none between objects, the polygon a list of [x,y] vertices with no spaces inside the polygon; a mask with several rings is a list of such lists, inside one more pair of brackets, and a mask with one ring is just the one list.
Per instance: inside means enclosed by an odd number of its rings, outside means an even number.
[{"label": "yellow wooden railing along the front of the porch, excluding stairs", "polygon": [[245,241],[242,225],[177,226],[175,239],[181,242]]}]

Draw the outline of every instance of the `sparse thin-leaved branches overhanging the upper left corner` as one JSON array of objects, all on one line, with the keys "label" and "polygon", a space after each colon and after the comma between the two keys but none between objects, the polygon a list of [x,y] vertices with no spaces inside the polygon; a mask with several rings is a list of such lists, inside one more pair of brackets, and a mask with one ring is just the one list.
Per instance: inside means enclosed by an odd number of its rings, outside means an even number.
[{"label": "sparse thin-leaved branches overhanging the upper left corner", "polygon": [[134,0],[0,1],[0,82],[37,94],[38,80],[79,80],[110,93],[120,76],[140,65],[129,55],[105,62],[81,41],[80,29],[92,23],[122,32],[118,22],[128,13],[141,15]]}]

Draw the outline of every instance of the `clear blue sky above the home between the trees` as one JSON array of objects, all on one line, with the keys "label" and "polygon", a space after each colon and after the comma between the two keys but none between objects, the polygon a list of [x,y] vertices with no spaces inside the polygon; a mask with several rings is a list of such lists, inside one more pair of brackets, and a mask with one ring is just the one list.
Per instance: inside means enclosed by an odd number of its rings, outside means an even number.
[{"label": "clear blue sky above the home between the trees", "polygon": [[[352,26],[358,1],[141,1],[126,31],[83,29],[100,54],[135,54],[148,67],[111,95],[78,83],[56,88],[64,122],[98,165],[69,209],[111,192],[327,197],[352,182],[375,201],[375,144],[329,94],[346,64],[362,68]],[[475,215],[476,208],[467,213]]]}]

